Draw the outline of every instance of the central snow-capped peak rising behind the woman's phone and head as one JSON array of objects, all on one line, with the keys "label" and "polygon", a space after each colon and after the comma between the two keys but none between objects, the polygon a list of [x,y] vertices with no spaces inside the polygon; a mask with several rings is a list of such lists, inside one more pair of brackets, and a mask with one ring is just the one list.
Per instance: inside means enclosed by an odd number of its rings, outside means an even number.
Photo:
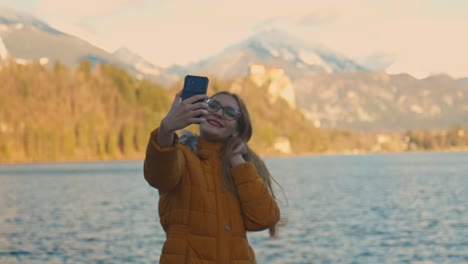
[{"label": "central snow-capped peak rising behind the woman's phone and head", "polygon": [[[282,68],[293,80],[317,72],[366,70],[336,51],[307,43],[286,32],[269,30],[232,45],[211,58],[186,66],[185,73],[230,79],[246,76],[252,63]],[[172,71],[184,73],[180,67]]]}]

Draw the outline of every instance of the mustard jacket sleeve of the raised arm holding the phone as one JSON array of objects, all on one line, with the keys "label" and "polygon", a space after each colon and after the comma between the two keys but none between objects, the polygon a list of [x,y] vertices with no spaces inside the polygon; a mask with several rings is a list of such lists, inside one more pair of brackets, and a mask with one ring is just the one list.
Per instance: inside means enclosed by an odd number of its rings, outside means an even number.
[{"label": "mustard jacket sleeve of the raised arm holding the phone", "polygon": [[161,192],[172,190],[180,181],[184,168],[184,155],[179,147],[179,138],[174,136],[174,144],[161,147],[156,142],[158,129],[151,132],[146,148],[143,174],[149,185]]}]

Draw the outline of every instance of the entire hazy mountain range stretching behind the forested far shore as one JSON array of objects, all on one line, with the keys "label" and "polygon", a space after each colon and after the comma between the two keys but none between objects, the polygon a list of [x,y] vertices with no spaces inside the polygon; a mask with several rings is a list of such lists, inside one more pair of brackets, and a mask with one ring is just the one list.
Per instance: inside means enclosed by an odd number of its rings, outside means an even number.
[{"label": "entire hazy mountain range stretching behind the forested far shore", "polygon": [[[58,60],[69,67],[89,59],[114,64],[164,87],[186,74],[245,78],[250,65],[260,64],[284,70],[296,107],[317,126],[402,130],[468,123],[468,78],[436,75],[420,80],[375,72],[375,67],[279,30],[260,32],[196,63],[163,68],[128,48],[107,52],[29,14],[0,8],[0,57],[49,65]],[[379,56],[373,61],[380,69],[387,63]]]}]

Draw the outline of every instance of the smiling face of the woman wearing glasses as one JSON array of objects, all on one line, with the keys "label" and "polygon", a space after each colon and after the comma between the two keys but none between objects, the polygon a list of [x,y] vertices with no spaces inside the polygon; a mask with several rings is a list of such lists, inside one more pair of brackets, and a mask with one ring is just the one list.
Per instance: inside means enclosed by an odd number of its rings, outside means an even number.
[{"label": "smiling face of the woman wearing glasses", "polygon": [[[231,107],[239,111],[239,105],[234,97],[228,94],[218,94],[212,99],[219,102],[222,107]],[[224,141],[230,136],[237,136],[237,119],[228,120],[223,114],[223,109],[208,111],[204,122],[200,123],[200,136],[208,141]]]}]

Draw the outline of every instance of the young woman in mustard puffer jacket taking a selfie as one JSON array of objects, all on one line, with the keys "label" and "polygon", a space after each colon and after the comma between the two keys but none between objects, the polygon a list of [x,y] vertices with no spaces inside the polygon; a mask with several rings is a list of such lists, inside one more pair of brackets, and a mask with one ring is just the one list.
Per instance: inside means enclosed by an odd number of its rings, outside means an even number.
[{"label": "young woman in mustard puffer jacket taking a selfie", "polygon": [[[246,105],[230,92],[180,97],[151,133],[144,163],[166,232],[160,263],[256,263],[246,232],[274,236],[280,210],[265,163],[247,145]],[[176,134],[190,124],[199,136]]]}]

